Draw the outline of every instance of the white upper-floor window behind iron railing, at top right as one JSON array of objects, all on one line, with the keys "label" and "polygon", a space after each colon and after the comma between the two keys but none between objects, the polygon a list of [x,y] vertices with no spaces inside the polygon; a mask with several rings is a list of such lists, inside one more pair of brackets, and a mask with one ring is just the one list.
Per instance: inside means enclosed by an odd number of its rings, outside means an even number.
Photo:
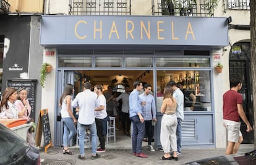
[{"label": "white upper-floor window behind iron railing, at top right", "polygon": [[250,10],[250,0],[225,0],[226,9]]}]

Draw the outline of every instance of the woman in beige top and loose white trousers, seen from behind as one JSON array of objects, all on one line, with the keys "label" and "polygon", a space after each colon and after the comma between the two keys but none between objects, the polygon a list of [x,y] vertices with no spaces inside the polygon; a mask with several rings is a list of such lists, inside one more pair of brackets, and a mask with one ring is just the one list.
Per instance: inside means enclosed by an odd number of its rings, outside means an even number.
[{"label": "woman in beige top and loose white trousers, seen from behind", "polygon": [[[164,150],[164,155],[160,158],[162,160],[178,160],[176,140],[177,116],[175,114],[176,107],[177,102],[173,97],[173,89],[169,86],[165,87],[163,104],[160,110],[163,114],[160,132],[160,142]],[[170,154],[171,150],[173,151],[173,156]]]}]

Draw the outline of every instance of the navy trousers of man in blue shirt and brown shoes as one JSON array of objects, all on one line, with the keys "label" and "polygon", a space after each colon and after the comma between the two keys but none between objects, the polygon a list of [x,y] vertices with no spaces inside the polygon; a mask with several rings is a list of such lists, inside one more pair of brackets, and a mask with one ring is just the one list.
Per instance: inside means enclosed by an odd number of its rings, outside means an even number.
[{"label": "navy trousers of man in blue shirt and brown shoes", "polygon": [[145,134],[145,122],[140,122],[139,116],[130,117],[132,121],[132,152],[142,152],[142,140]]}]

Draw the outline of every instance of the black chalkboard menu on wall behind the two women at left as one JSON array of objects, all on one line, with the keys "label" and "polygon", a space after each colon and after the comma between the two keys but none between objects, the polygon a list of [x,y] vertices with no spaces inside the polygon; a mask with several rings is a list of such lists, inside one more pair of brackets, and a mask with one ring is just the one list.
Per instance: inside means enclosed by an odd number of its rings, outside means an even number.
[{"label": "black chalkboard menu on wall behind the two women at left", "polygon": [[22,87],[27,88],[28,96],[27,99],[31,106],[31,114],[30,117],[35,119],[35,96],[36,96],[36,81],[31,79],[12,79],[7,80],[7,87],[13,87],[15,89],[19,89]]}]

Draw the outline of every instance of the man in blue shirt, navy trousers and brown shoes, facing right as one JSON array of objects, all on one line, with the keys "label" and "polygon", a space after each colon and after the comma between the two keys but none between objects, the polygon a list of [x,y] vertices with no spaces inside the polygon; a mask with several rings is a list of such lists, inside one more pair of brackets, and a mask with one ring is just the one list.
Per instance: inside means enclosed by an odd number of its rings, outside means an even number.
[{"label": "man in blue shirt, navy trousers and brown shoes, facing right", "polygon": [[142,140],[145,133],[145,122],[142,114],[142,101],[139,98],[139,91],[142,90],[141,82],[134,82],[134,90],[129,96],[129,113],[132,121],[132,152],[134,156],[148,158],[142,153]]}]

